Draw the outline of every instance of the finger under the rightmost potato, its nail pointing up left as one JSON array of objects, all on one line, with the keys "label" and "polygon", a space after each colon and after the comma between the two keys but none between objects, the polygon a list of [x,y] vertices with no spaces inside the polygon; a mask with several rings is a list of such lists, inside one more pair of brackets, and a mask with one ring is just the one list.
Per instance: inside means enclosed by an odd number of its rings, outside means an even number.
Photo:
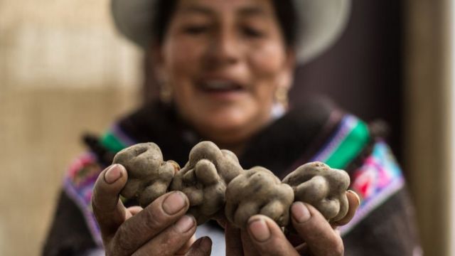
[{"label": "finger under the rightmost potato, its nail pointing up left", "polygon": [[343,255],[341,237],[316,208],[296,202],[291,206],[292,225],[314,255]]}]

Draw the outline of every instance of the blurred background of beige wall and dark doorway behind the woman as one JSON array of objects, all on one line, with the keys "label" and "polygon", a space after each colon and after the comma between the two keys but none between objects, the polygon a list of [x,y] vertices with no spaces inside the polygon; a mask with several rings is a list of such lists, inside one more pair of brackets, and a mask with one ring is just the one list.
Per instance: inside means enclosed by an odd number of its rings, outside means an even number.
[{"label": "blurred background of beige wall and dark doorway behind the woman", "polygon": [[[291,92],[390,124],[426,255],[455,255],[453,6],[353,0],[346,33],[297,69]],[[82,133],[156,97],[147,65],[114,31],[108,0],[0,0],[0,255],[40,254]]]}]

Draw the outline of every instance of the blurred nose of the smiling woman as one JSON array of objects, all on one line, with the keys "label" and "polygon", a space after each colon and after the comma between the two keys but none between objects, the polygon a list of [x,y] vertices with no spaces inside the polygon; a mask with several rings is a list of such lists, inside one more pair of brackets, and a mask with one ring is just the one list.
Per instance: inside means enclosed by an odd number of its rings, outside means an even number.
[{"label": "blurred nose of the smiling woman", "polygon": [[235,65],[240,60],[240,43],[235,32],[229,28],[220,28],[209,39],[207,50],[207,65],[210,68],[220,68]]}]

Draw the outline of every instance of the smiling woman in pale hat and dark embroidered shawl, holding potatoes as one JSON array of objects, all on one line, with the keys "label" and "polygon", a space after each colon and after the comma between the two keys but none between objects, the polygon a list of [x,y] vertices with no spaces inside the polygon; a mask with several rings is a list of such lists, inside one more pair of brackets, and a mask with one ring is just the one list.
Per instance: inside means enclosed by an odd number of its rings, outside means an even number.
[{"label": "smiling woman in pale hat and dark embroidered shawl, holding potatoes", "polygon": [[[125,208],[118,195],[127,173],[109,166],[112,154],[139,142],[155,142],[166,159],[183,165],[201,139],[234,151],[245,169],[260,165],[281,177],[307,161],[325,161],[346,169],[364,200],[342,229],[346,249],[317,210],[295,203],[293,225],[304,247],[294,248],[276,224],[257,215],[247,233],[198,227],[198,236],[210,234],[213,252],[411,255],[418,248],[400,169],[374,129],[326,102],[287,107],[296,63],[336,38],[348,1],[114,0],[112,7],[119,30],[151,55],[162,97],[100,141],[86,139],[92,150],[70,169],[45,254],[96,253],[102,245],[107,255],[210,253],[208,238],[193,242],[186,196],[168,193],[144,209]],[[355,209],[355,196],[348,197]]]}]

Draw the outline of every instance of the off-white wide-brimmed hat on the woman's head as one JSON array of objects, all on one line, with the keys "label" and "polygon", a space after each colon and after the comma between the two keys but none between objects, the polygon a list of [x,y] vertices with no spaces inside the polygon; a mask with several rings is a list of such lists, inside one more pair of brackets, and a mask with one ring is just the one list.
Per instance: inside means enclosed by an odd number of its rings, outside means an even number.
[{"label": "off-white wide-brimmed hat on the woman's head", "polygon": [[[350,0],[293,0],[299,21],[297,60],[307,63],[331,47],[343,32],[350,14]],[[112,16],[119,31],[147,48],[152,40],[157,0],[112,0]]]}]

